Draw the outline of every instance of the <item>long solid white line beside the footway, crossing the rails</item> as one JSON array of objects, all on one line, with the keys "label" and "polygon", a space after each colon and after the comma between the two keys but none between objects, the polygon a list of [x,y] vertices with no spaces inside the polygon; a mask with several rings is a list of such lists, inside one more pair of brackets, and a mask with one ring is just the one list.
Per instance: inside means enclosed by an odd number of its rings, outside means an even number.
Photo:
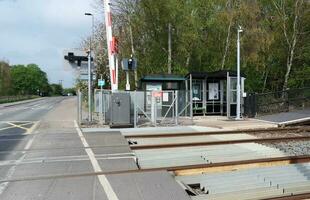
[{"label": "long solid white line beside the footway, crossing the rails", "polygon": [[[89,145],[81,131],[81,129],[79,128],[76,120],[74,120],[74,126],[76,128],[76,131],[78,132],[78,135],[83,143],[83,146],[87,149],[85,149],[89,159],[90,159],[90,162],[95,170],[95,172],[102,172],[102,169],[97,161],[97,159],[95,158],[95,154],[94,152],[89,148]],[[99,182],[104,190],[104,192],[106,193],[107,197],[109,200],[119,200],[117,195],[115,194],[110,182],[108,181],[107,177],[105,175],[98,175],[97,176],[98,179],[99,179]]]}]

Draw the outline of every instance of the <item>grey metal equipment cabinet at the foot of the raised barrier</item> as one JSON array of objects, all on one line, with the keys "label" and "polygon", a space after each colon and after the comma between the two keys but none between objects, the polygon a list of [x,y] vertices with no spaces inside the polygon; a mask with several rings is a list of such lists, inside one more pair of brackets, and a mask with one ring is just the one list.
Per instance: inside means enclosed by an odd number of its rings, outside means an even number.
[{"label": "grey metal equipment cabinet at the foot of the raised barrier", "polygon": [[112,93],[110,127],[131,127],[130,120],[130,94]]}]

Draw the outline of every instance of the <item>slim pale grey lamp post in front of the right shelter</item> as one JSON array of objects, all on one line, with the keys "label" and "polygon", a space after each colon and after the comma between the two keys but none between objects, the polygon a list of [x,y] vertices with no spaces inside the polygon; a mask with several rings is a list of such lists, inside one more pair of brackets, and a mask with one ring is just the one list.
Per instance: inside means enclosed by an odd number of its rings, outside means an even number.
[{"label": "slim pale grey lamp post in front of the right shelter", "polygon": [[236,113],[236,120],[241,119],[241,89],[240,89],[240,33],[243,30],[241,26],[238,26],[237,29],[237,113]]}]

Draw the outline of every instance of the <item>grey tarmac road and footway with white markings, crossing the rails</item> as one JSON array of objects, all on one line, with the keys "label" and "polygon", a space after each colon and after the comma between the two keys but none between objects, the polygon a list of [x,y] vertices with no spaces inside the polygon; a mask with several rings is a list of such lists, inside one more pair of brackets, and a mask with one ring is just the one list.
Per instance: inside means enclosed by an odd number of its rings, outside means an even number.
[{"label": "grey tarmac road and footway with white markings, crossing the rails", "polygon": [[133,152],[119,131],[81,131],[75,97],[0,113],[1,200],[190,199],[166,171],[111,174],[138,169]]}]

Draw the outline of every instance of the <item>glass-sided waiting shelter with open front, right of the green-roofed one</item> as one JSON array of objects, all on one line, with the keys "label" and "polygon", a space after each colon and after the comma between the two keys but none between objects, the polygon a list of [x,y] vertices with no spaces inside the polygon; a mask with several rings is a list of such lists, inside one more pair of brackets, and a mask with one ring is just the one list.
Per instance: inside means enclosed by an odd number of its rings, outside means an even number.
[{"label": "glass-sided waiting shelter with open front, right of the green-roofed one", "polygon": [[[241,104],[243,105],[245,76],[241,74]],[[231,70],[191,72],[186,75],[186,90],[192,91],[194,115],[236,116],[237,73]],[[242,108],[242,106],[241,106]],[[243,108],[241,109],[243,112]]]}]

